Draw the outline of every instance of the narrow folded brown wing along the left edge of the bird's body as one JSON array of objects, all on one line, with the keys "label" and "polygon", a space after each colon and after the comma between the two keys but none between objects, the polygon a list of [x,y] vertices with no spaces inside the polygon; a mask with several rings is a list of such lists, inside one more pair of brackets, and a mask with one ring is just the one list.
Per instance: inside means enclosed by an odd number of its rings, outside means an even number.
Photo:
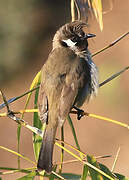
[{"label": "narrow folded brown wing along the left edge of the bird's body", "polygon": [[38,108],[40,120],[44,123],[48,121],[48,98],[41,83],[38,97]]}]

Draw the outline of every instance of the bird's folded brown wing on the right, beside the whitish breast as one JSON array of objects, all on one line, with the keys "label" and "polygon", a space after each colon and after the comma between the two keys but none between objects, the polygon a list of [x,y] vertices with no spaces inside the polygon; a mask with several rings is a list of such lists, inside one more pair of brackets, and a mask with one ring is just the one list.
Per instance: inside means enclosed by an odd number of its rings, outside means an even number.
[{"label": "bird's folded brown wing on the right, beside the whitish breast", "polygon": [[[80,102],[81,98],[84,98],[85,100],[86,92],[83,91],[88,91],[85,87],[89,86],[88,83],[90,83],[90,71],[85,59],[80,59],[77,57],[76,60],[77,61],[74,62],[70,72],[66,75],[61,92],[59,110],[59,124],[61,125],[63,124],[73,105]],[[80,103],[80,105],[82,104],[83,101]]]}]

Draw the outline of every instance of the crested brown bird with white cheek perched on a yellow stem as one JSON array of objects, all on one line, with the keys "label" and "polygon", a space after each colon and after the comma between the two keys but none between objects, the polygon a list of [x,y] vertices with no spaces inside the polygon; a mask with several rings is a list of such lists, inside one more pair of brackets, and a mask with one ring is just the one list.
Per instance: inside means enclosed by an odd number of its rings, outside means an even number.
[{"label": "crested brown bird with white cheek perched on a yellow stem", "polygon": [[38,97],[39,117],[46,123],[38,171],[51,173],[57,127],[61,127],[73,107],[96,96],[99,88],[98,68],[88,50],[87,24],[73,21],[61,26],[54,35],[52,50],[41,69]]}]

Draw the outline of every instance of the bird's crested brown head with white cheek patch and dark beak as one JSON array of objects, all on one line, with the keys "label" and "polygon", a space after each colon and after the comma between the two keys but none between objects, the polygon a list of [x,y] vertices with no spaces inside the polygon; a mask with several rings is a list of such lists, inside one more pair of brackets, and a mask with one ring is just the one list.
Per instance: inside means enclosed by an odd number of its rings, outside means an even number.
[{"label": "bird's crested brown head with white cheek patch and dark beak", "polygon": [[53,38],[53,49],[57,47],[66,47],[74,51],[85,51],[88,47],[88,38],[95,37],[94,34],[87,34],[84,28],[86,23],[74,21],[62,26]]}]

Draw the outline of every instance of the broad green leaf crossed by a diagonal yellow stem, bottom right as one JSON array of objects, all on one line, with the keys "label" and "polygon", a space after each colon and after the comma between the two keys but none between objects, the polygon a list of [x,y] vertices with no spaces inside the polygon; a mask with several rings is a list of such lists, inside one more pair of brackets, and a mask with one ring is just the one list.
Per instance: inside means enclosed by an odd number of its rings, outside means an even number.
[{"label": "broad green leaf crossed by a diagonal yellow stem, bottom right", "polygon": [[[98,165],[98,162],[96,161],[96,159],[93,156],[87,155],[87,161],[90,164],[92,164],[93,166],[100,169],[99,165]],[[91,176],[92,180],[102,180],[103,179],[102,175],[100,173],[98,173],[97,171],[95,171],[94,169],[88,167],[88,170],[89,170],[89,173],[90,173],[90,176]]]}]

